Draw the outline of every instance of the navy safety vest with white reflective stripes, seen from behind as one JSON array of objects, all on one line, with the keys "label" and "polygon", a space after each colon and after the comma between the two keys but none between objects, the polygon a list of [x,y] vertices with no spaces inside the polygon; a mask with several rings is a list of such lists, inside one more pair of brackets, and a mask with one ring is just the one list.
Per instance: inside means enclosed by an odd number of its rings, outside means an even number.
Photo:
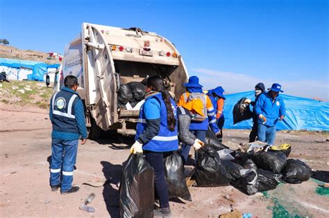
[{"label": "navy safety vest with white reflective stripes, seen from behind", "polygon": [[74,114],[74,106],[80,99],[78,94],[60,90],[53,95],[51,101],[53,131],[79,133]]}]

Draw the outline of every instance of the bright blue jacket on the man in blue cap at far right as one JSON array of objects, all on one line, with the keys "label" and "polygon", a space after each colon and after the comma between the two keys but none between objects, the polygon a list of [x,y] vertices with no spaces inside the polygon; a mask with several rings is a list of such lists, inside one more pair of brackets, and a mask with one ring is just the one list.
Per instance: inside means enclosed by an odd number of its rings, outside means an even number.
[{"label": "bright blue jacket on the man in blue cap at far right", "polygon": [[264,125],[273,127],[278,122],[280,116],[285,116],[285,102],[283,102],[282,97],[279,95],[276,99],[271,98],[269,93],[263,93],[258,98],[255,105],[255,113],[257,114],[257,122],[262,123],[260,120],[260,114],[267,118],[267,122]]}]

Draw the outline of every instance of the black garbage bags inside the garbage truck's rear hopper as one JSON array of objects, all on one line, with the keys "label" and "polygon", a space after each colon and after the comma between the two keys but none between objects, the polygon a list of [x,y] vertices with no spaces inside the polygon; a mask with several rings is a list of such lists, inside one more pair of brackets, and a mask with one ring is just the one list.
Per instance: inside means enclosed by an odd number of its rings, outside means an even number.
[{"label": "black garbage bags inside the garbage truck's rear hopper", "polygon": [[131,107],[135,107],[138,102],[144,99],[145,92],[145,85],[142,82],[120,84],[119,91],[117,92],[118,108],[126,109],[127,103]]}]

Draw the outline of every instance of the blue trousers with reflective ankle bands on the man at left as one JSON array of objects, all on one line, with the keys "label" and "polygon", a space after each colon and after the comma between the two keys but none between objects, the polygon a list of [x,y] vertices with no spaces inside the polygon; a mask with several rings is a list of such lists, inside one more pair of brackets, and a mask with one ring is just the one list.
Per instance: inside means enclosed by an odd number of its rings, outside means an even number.
[{"label": "blue trousers with reflective ankle bands on the man at left", "polygon": [[53,138],[51,141],[50,185],[60,185],[62,192],[72,188],[77,152],[78,140]]}]

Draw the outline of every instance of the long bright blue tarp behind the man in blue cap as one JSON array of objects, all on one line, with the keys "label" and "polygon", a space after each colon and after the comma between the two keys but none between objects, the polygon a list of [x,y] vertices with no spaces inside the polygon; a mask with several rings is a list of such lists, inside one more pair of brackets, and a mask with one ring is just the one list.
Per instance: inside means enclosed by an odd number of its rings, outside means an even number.
[{"label": "long bright blue tarp behind the man in blue cap", "polygon": [[[254,91],[226,95],[224,106],[225,129],[251,129],[252,119],[233,125],[233,107],[241,98],[255,100]],[[280,94],[285,101],[286,117],[278,121],[278,130],[323,130],[329,131],[329,102]],[[251,107],[252,110],[252,107]]]}]

